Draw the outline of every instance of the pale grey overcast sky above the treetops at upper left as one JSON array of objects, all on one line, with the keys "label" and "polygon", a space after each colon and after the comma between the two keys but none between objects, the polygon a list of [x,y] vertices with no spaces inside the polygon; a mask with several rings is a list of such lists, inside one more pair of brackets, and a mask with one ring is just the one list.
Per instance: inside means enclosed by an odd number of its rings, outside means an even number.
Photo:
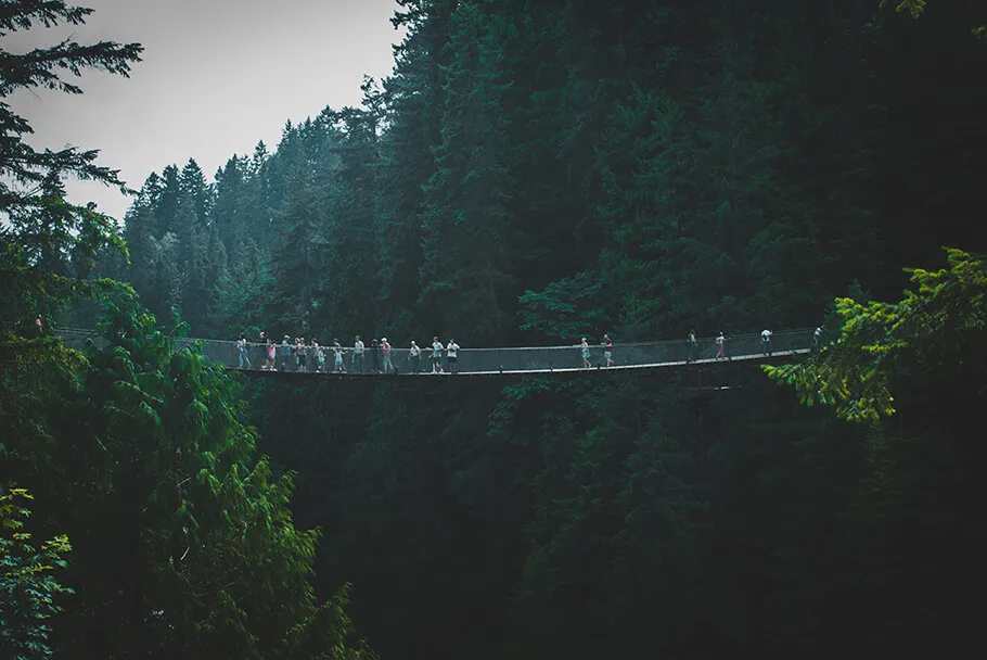
[{"label": "pale grey overcast sky above the treetops at upper left", "polygon": [[[326,105],[358,105],[363,74],[388,75],[395,0],[75,0],[95,13],[84,26],[4,38],[10,51],[74,35],[140,42],[130,78],[87,73],[81,96],[18,92],[14,110],[35,129],[35,148],[101,150],[100,164],[131,188],[152,172],[194,157],[211,180],[258,140],[273,151],[287,119]],[[68,198],[123,218],[129,200],[70,181]]]}]

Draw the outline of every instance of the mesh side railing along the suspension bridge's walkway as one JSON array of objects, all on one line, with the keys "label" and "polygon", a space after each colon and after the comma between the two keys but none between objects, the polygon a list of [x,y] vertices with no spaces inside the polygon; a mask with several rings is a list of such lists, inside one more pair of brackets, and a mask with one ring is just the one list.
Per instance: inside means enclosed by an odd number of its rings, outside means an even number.
[{"label": "mesh side railing along the suspension bridge's walkway", "polygon": [[[82,341],[88,335],[86,331],[60,329],[59,334],[66,345],[81,347]],[[240,348],[235,341],[227,340],[179,340],[177,345],[184,347],[192,342],[200,342],[203,353],[211,359],[229,368],[243,368],[245,370],[264,370],[268,365],[268,346],[264,344],[248,344],[247,358],[241,364]],[[772,354],[784,354],[793,351],[810,348],[812,330],[791,330],[774,332],[771,337],[769,350]],[[98,345],[101,342],[98,342]],[[333,371],[335,356],[332,346],[322,346],[324,364],[320,369],[317,357],[311,346],[303,350],[305,365],[299,365],[298,355],[290,347],[287,351],[280,344],[274,344],[274,368],[279,371],[306,371],[316,372]],[[383,370],[383,355],[377,350],[376,354],[366,348],[362,365],[355,359],[352,346],[344,348],[344,367],[348,373],[374,373]],[[636,342],[616,344],[612,356],[614,366],[640,367],[646,365],[676,365],[687,361],[707,361],[717,359],[718,346],[715,338],[696,340],[695,346],[690,346],[685,340],[667,340],[657,342]],[[592,367],[605,367],[603,346],[590,345],[590,364]],[[394,348],[392,364],[399,375],[432,371],[432,348],[421,347],[421,357],[415,360],[410,357],[410,348]],[[764,354],[764,344],[759,333],[739,334],[727,339],[727,357],[751,358]],[[448,371],[446,352],[441,356],[443,369]],[[496,348],[469,348],[461,347],[458,352],[456,369],[471,373],[499,373],[511,371],[553,371],[562,369],[579,369],[584,367],[582,353],[578,345],[569,346],[521,346]]]}]

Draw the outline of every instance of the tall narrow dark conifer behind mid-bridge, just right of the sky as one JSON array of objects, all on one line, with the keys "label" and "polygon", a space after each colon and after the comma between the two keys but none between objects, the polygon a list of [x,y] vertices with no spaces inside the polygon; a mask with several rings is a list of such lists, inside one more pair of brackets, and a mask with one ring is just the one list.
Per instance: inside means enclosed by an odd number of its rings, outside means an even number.
[{"label": "tall narrow dark conifer behind mid-bridge, just right of the sky", "polygon": [[422,223],[421,310],[437,332],[476,344],[509,337],[514,312],[514,181],[500,105],[510,84],[500,77],[500,33],[490,18],[474,4],[452,16],[443,141]]}]

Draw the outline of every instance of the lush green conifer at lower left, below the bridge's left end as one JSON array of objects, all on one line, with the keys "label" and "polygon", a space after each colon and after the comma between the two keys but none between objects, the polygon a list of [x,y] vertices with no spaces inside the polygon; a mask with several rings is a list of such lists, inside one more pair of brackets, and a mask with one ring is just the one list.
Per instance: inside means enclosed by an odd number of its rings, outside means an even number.
[{"label": "lush green conifer at lower left, below the bridge's left end", "polygon": [[77,550],[57,648],[360,657],[346,650],[346,589],[320,604],[309,585],[318,533],[292,522],[292,475],[253,457],[236,383],[153,325],[111,309],[106,345],[81,364],[22,363],[4,379],[2,450]]}]

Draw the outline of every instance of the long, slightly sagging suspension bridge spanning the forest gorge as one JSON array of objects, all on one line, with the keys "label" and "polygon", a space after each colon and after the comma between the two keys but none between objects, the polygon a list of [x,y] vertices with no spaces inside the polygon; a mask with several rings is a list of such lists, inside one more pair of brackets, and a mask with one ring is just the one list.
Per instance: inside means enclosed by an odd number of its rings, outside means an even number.
[{"label": "long, slightly sagging suspension bridge spanning the forest gorge", "polygon": [[[66,346],[80,348],[87,340],[97,345],[105,342],[91,331],[59,328],[55,330]],[[222,364],[227,369],[254,377],[309,377],[309,378],[459,378],[493,377],[503,375],[577,375],[587,372],[614,372],[640,370],[681,370],[722,364],[759,364],[767,360],[806,355],[812,350],[813,329],[773,332],[765,344],[759,332],[735,334],[726,341],[726,356],[718,356],[716,338],[696,338],[695,344],[687,340],[632,342],[616,344],[612,348],[613,366],[606,366],[604,347],[590,345],[590,367],[582,361],[579,345],[566,346],[503,346],[489,348],[460,347],[456,373],[451,373],[443,352],[443,373],[432,372],[432,348],[423,346],[421,358],[412,359],[410,348],[393,348],[390,363],[394,371],[384,373],[383,355],[368,346],[362,360],[354,359],[354,347],[345,347],[343,366],[335,370],[332,346],[322,346],[324,365],[316,359],[312,346],[297,348],[274,344],[273,364],[269,361],[266,344],[249,343],[245,359],[235,341],[187,338],[177,340],[178,348],[197,344],[203,354]],[[362,364],[360,364],[360,361]]]}]

